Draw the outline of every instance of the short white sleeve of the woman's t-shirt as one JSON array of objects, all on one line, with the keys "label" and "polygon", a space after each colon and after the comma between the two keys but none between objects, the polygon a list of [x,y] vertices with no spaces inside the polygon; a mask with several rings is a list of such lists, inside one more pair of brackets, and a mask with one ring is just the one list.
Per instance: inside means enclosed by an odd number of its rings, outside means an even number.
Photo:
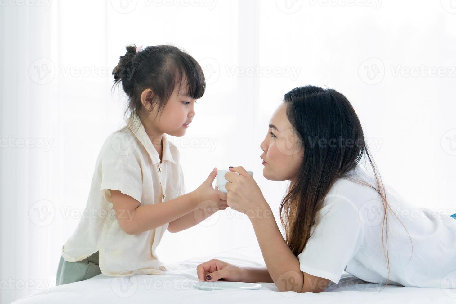
[{"label": "short white sleeve of the woman's t-shirt", "polygon": [[340,195],[326,196],[318,216],[313,234],[298,255],[301,271],[337,284],[362,244],[364,225],[358,208]]}]

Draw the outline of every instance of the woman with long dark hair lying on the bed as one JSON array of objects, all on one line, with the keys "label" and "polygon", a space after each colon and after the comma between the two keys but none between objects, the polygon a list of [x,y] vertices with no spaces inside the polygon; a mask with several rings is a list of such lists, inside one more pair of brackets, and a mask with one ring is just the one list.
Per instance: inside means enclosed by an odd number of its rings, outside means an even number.
[{"label": "woman with long dark hair lying on the bed", "polygon": [[260,145],[263,175],[290,180],[280,205],[285,240],[255,180],[230,167],[227,204],[249,217],[267,268],[212,259],[198,265],[201,281],[274,282],[279,291],[316,293],[346,271],[373,283],[451,288],[444,278],[456,271],[456,221],[383,186],[344,95],[294,88],[268,132]]}]

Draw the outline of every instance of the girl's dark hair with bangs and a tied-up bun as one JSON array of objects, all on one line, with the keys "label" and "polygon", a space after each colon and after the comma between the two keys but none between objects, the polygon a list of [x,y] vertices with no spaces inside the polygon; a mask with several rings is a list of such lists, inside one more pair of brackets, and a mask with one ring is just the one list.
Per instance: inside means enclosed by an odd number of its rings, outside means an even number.
[{"label": "girl's dark hair with bangs and a tied-up bun", "polygon": [[[124,92],[129,98],[125,109],[128,114],[141,112],[144,107],[141,103],[141,93],[150,88],[154,93],[153,101],[147,115],[158,106],[157,115],[165,108],[176,86],[181,84],[187,88],[187,95],[194,99],[203,96],[206,89],[204,73],[198,62],[183,50],[171,45],[146,46],[136,52],[134,44],[126,47],[125,55],[119,57],[119,63],[114,67],[113,88],[122,84]],[[119,131],[126,131],[134,124],[125,126]]]}]

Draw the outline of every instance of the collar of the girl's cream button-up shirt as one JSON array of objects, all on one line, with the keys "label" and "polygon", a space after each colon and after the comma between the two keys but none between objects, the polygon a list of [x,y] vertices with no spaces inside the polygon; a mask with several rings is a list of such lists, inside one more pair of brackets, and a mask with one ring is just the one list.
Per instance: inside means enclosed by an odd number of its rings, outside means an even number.
[{"label": "collar of the girl's cream button-up shirt", "polygon": [[[135,134],[136,138],[140,141],[140,143],[144,146],[145,150],[150,156],[152,160],[152,164],[160,163],[160,156],[158,155],[157,150],[154,148],[152,141],[150,140],[149,136],[145,132],[144,125],[142,124],[139,116],[134,112],[128,118],[128,123],[133,119],[132,124],[128,124],[130,126],[131,131]],[[163,134],[163,139],[161,141],[163,152],[161,155],[162,162],[163,161],[170,161],[171,163],[175,164],[172,155],[171,155],[171,141],[166,137],[166,134]]]}]

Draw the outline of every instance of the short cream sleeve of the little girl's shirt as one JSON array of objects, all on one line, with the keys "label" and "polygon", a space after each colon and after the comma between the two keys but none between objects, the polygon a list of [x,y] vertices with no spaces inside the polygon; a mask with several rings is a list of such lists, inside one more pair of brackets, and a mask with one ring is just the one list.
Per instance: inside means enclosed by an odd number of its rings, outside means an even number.
[{"label": "short cream sleeve of the little girl's shirt", "polygon": [[102,159],[100,191],[112,203],[110,190],[119,190],[141,203],[142,173],[139,164],[125,160]]}]

